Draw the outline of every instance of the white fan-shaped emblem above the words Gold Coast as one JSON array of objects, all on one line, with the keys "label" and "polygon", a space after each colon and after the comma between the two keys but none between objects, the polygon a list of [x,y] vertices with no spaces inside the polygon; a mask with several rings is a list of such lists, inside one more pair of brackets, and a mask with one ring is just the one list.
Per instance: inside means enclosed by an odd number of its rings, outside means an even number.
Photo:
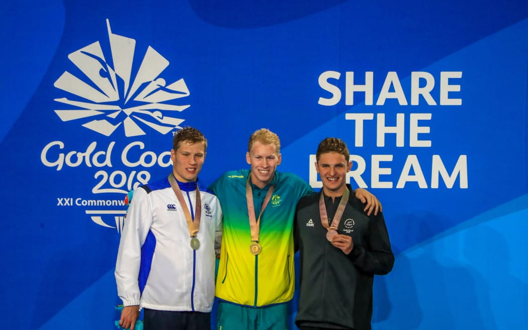
[{"label": "white fan-shaped emblem above the words Gold Coast", "polygon": [[173,104],[190,94],[183,78],[167,83],[161,73],[169,61],[151,46],[133,77],[136,40],[112,33],[110,22],[106,23],[111,62],[103,55],[99,41],[69,54],[68,59],[83,75],[76,77],[65,71],[55,81],[53,86],[71,95],[55,99],[71,107],[55,113],[62,121],[79,120],[83,127],[106,136],[121,124],[125,136],[145,135],[146,127],[161,134],[181,128],[184,119],[172,116],[190,107]]}]

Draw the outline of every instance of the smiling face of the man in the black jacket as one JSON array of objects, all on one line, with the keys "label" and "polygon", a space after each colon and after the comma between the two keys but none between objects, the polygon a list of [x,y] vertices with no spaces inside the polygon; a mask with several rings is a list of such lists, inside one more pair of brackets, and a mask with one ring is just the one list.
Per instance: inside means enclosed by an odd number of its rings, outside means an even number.
[{"label": "smiling face of the man in the black jacket", "polygon": [[315,169],[323,182],[323,192],[327,196],[342,196],[346,189],[346,173],[350,171],[352,162],[343,154],[329,152],[319,155]]}]

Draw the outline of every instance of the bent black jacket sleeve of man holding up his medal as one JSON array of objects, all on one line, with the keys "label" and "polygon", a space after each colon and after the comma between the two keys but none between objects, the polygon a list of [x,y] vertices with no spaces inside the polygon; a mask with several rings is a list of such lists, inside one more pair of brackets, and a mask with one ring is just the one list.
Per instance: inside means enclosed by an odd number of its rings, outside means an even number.
[{"label": "bent black jacket sleeve of man holding up his medal", "polygon": [[383,213],[371,215],[369,218],[365,246],[354,245],[349,256],[358,269],[374,275],[385,275],[392,270],[394,265],[389,233],[385,226]]}]

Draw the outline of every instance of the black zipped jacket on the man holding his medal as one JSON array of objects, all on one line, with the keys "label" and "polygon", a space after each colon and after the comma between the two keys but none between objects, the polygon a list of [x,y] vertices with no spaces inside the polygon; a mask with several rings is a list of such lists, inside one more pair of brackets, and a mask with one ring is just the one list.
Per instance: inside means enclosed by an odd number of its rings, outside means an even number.
[{"label": "black zipped jacket on the man holding his medal", "polygon": [[[364,204],[351,191],[337,229],[352,236],[354,248],[346,255],[326,239],[319,215],[321,193],[305,196],[297,204],[294,231],[300,250],[300,296],[295,323],[370,330],[374,275],[387,274],[394,264],[383,214],[367,216]],[[340,200],[325,196],[330,223]]]}]

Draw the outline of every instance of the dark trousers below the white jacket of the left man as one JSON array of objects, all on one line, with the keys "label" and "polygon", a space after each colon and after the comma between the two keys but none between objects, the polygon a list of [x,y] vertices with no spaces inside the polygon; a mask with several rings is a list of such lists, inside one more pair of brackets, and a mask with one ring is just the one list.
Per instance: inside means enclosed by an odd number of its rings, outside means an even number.
[{"label": "dark trousers below the white jacket of the left man", "polygon": [[172,312],[145,308],[144,330],[210,330],[211,313]]}]

